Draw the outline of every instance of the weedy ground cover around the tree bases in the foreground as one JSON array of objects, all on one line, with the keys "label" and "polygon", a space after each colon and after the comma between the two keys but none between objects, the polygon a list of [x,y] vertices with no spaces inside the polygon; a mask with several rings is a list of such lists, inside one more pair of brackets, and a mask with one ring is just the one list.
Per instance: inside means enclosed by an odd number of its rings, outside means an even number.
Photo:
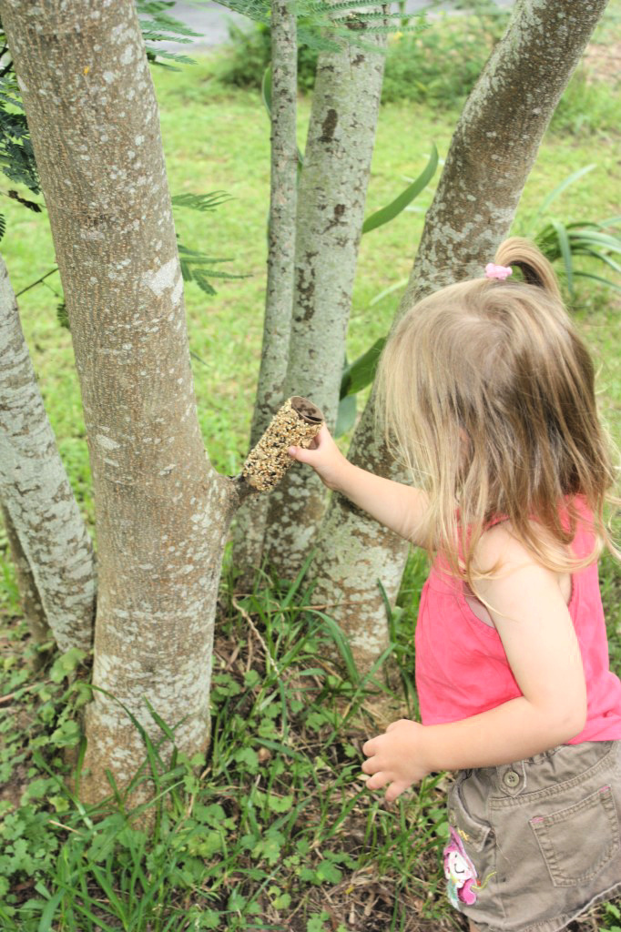
[{"label": "weedy ground cover around the tree bases in the foreground", "polygon": [[[7,746],[5,775],[21,767],[23,780],[3,803],[0,828],[7,932],[302,930],[321,927],[328,893],[331,927],[346,929],[359,915],[358,927],[370,929],[377,926],[366,925],[366,898],[390,885],[379,908],[387,928],[407,928],[417,898],[440,909],[428,894],[446,838],[441,777],[391,810],[360,778],[360,745],[390,689],[364,683],[308,592],[229,593],[228,606],[216,639],[207,759],[173,753],[165,767],[145,737],[149,765],[139,779],[157,788],[151,838],[126,792],[113,786],[105,805],[88,810],[63,782],[62,749],[79,742],[63,727],[66,710],[75,714],[88,692],[75,678],[83,658],[57,658],[33,684],[11,655],[12,720],[29,720],[29,740],[24,750],[23,733],[13,734]],[[327,659],[335,652],[338,662]],[[426,879],[406,889],[410,872]]]}]

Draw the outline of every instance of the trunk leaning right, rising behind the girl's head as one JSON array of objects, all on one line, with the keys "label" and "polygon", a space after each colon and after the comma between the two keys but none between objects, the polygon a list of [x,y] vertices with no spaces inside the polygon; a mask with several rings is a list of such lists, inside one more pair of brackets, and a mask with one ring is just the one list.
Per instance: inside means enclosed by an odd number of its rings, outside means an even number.
[{"label": "trunk leaning right, rising behind the girl's head", "polygon": [[[518,0],[506,34],[462,112],[397,320],[421,295],[480,276],[513,221],[545,129],[606,0]],[[375,436],[373,396],[356,429],[351,459],[399,475]],[[379,582],[393,603],[407,544],[334,496],[310,575],[314,598],[335,617],[368,669],[387,644]]]}]

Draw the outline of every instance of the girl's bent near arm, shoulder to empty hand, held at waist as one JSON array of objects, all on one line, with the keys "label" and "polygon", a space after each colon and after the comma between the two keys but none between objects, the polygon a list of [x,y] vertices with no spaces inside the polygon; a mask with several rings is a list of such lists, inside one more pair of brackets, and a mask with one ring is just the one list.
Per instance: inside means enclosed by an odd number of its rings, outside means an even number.
[{"label": "girl's bent near arm, shoulder to empty hand, held at waist", "polygon": [[[486,540],[487,539],[487,540]],[[369,789],[387,787],[392,802],[426,774],[490,767],[531,757],[579,734],[586,720],[586,684],[572,618],[556,575],[502,525],[485,535],[504,567],[479,583],[522,695],[470,719],[424,726],[399,720],[367,741],[363,771]]]}]

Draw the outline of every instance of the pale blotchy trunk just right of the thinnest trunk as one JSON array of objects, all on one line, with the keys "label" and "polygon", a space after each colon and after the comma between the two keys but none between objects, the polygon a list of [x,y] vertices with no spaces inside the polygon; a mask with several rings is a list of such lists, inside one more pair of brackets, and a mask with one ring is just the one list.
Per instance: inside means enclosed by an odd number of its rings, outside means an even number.
[{"label": "pale blotchy trunk just right of the thinnest trunk", "polygon": [[[334,426],[353,277],[380,106],[384,57],[324,52],[317,66],[297,209],[296,298],[285,396],[302,394]],[[295,576],[311,548],[325,494],[295,467],[270,497],[265,553]]]}]

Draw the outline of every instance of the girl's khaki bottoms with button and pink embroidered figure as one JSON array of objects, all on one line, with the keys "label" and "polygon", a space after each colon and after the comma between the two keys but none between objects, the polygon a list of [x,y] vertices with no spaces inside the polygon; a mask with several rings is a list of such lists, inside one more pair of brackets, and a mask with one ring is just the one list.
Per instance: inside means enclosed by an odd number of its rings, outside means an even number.
[{"label": "girl's khaki bottoms with button and pink embroidered figure", "polygon": [[449,898],[481,932],[556,932],[621,887],[621,741],[460,771]]}]

